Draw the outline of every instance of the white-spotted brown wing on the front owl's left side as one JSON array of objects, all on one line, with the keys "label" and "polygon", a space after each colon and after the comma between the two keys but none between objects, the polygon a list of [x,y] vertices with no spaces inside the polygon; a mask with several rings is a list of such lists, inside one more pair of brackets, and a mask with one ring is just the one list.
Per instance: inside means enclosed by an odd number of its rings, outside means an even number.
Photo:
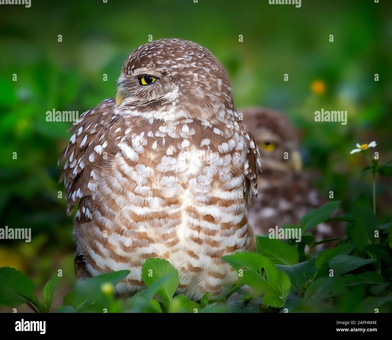
[{"label": "white-spotted brown wing on the front owl's left side", "polygon": [[[68,214],[81,200],[91,200],[89,180],[96,179],[99,176],[96,169],[102,169],[115,155],[117,143],[110,140],[115,140],[121,130],[118,130],[121,120],[114,113],[115,106],[114,99],[103,101],[84,112],[70,129],[74,134],[58,161],[59,164],[65,161],[60,181],[64,178]],[[83,213],[87,217],[90,214]],[[80,215],[82,211],[77,212],[76,218],[82,218]]]}]

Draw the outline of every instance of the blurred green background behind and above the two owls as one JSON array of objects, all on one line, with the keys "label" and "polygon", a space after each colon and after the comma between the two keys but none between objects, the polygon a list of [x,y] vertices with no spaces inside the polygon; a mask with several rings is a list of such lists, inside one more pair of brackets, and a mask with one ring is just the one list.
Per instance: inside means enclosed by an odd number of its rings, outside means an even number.
[{"label": "blurred green background behind and above the two owls", "polygon": [[[305,169],[325,196],[334,191],[343,207],[361,194],[370,199],[371,178],[360,179],[364,158],[349,152],[376,140],[380,162],[392,158],[391,14],[391,2],[373,0],[304,0],[300,8],[268,0],[0,5],[1,227],[32,228],[31,243],[1,240],[0,267],[27,273],[37,286],[61,268],[62,289],[69,290],[72,218],[58,198],[64,188],[57,160],[70,124],[47,122],[45,113],[82,114],[114,97],[123,61],[149,35],[211,50],[229,72],[238,109],[265,106],[289,117]],[[321,108],[347,110],[347,125],[314,122]],[[381,179],[377,193],[378,218],[387,221],[391,183]]]}]

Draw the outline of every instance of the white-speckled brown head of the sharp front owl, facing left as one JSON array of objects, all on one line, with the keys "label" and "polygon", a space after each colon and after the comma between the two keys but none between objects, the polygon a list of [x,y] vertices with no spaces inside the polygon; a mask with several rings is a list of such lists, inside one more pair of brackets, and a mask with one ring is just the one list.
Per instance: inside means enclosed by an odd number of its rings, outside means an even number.
[{"label": "white-speckled brown head of the sharp front owl, facing left", "polygon": [[225,68],[209,50],[180,39],[152,41],[129,55],[116,104],[120,111],[165,121],[237,115]]}]

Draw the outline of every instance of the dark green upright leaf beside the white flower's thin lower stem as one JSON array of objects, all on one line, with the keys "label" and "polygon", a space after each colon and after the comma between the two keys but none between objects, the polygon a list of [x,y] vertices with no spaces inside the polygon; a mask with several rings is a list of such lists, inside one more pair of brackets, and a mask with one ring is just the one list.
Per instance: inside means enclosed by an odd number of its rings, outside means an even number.
[{"label": "dark green upright leaf beside the white flower's thin lower stem", "polygon": [[374,243],[374,230],[376,227],[376,216],[368,207],[355,207],[353,209],[354,227],[350,236],[359,250]]}]

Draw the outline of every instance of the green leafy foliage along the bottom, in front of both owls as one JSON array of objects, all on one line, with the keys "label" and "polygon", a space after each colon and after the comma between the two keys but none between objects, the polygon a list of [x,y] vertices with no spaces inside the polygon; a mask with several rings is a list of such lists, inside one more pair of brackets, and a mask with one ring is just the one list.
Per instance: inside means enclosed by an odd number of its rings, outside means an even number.
[{"label": "green leafy foliage along the bottom, in front of both owls", "polygon": [[[223,256],[238,274],[238,281],[224,284],[219,296],[205,292],[199,301],[192,301],[176,295],[180,282],[176,268],[164,259],[149,258],[141,272],[146,288],[131,298],[116,296],[116,285],[130,270],[105,273],[76,282],[57,313],[390,311],[390,222],[377,227],[376,215],[362,203],[357,200],[350,214],[336,218],[347,221],[349,235],[334,239],[339,242],[333,248],[312,252],[316,245],[330,240],[316,243],[304,232],[299,243],[258,237],[256,252]],[[301,225],[286,227],[312,228],[328,220],[338,205],[335,201],[327,203],[305,215]],[[305,245],[309,245],[308,250]],[[0,305],[25,303],[36,312],[49,312],[59,281],[55,275],[45,284],[41,303],[34,296],[31,279],[14,268],[0,268]]]}]

